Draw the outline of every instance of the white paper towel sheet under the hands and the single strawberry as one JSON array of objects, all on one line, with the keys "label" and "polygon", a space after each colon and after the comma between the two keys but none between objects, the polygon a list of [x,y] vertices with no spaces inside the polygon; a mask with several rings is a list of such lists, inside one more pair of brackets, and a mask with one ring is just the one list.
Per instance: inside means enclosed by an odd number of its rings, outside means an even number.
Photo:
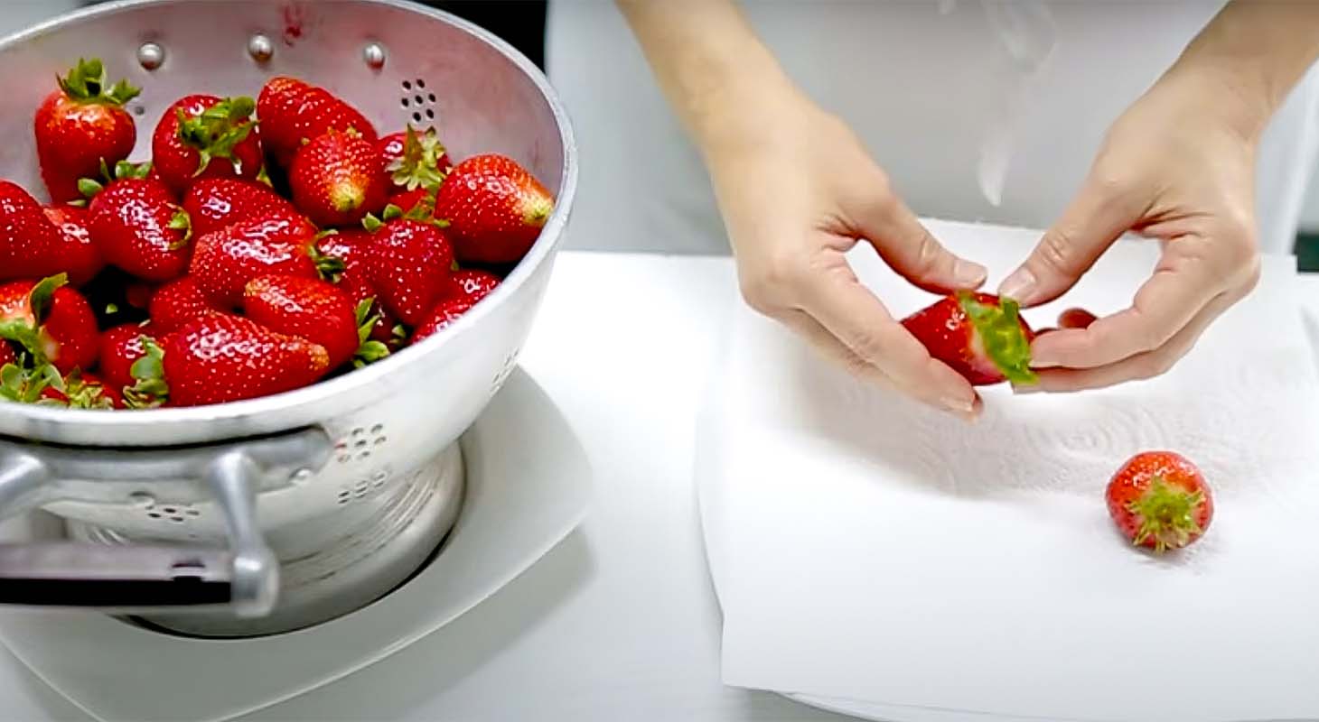
[{"label": "white paper towel sheet under the hands and the single strawberry", "polygon": [[[931,223],[1001,278],[1038,237]],[[1157,246],[1115,246],[1053,307],[1129,304]],[[933,296],[869,253],[901,316]],[[1047,719],[1319,717],[1319,382],[1294,260],[1171,373],[1079,395],[984,391],[975,426],[865,387],[743,310],[698,477],[727,684]],[[1104,507],[1136,452],[1181,452],[1216,516],[1166,559]]]}]

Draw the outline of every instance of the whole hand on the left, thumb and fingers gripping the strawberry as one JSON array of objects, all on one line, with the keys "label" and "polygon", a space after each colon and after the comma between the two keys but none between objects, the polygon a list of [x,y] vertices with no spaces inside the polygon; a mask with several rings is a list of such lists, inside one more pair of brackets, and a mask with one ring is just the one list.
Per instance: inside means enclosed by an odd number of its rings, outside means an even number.
[{"label": "whole hand on the left, thumb and fingers gripping the strawberry", "polygon": [[754,129],[704,148],[748,304],[852,374],[975,418],[975,389],[889,315],[844,254],[868,242],[934,292],[977,289],[985,269],[921,225],[839,119],[799,95],[748,115]]}]

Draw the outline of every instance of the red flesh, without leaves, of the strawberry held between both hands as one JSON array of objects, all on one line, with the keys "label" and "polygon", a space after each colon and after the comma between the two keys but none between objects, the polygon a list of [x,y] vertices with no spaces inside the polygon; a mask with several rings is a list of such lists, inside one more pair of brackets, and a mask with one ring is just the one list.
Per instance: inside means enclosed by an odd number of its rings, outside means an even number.
[{"label": "red flesh, without leaves, of the strawberry held between both hands", "polygon": [[[998,298],[992,294],[975,294],[975,299],[988,306],[997,306]],[[976,329],[955,296],[939,302],[902,319],[902,325],[921,341],[930,356],[947,364],[972,386],[992,386],[1005,381],[995,362],[981,353]],[[1021,329],[1030,341],[1034,331],[1021,321]]]}]

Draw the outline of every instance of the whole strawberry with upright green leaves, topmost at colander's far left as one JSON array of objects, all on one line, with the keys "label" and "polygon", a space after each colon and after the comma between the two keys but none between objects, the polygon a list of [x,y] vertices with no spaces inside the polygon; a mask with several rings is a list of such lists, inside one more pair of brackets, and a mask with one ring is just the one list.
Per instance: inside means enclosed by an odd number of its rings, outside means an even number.
[{"label": "whole strawberry with upright green leaves, topmost at colander's far left", "polygon": [[133,152],[137,128],[123,108],[138,90],[120,80],[106,84],[100,61],[78,61],[59,78],[59,90],[37,108],[34,132],[41,178],[51,203],[78,200],[79,178],[91,178],[102,163],[113,166]]}]

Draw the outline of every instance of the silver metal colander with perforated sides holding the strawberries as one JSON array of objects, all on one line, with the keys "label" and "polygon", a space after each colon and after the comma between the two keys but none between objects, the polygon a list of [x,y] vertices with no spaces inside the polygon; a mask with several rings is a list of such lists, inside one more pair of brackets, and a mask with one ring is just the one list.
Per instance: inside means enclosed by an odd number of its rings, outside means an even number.
[{"label": "silver metal colander with perforated sides holding the strawberries", "polygon": [[[423,5],[129,0],[0,42],[0,175],[38,196],[32,113],[57,74],[90,57],[142,88],[129,104],[133,159],[149,158],[150,130],[178,97],[255,97],[266,78],[294,75],[383,134],[434,125],[455,162],[506,154],[557,196],[499,289],[365,369],[212,407],[0,407],[0,515],[42,507],[82,542],[0,549],[0,602],[133,613],[200,634],[348,611],[406,577],[454,522],[455,441],[516,365],[572,207],[567,116],[516,50]],[[299,593],[294,578],[311,586]]]}]

